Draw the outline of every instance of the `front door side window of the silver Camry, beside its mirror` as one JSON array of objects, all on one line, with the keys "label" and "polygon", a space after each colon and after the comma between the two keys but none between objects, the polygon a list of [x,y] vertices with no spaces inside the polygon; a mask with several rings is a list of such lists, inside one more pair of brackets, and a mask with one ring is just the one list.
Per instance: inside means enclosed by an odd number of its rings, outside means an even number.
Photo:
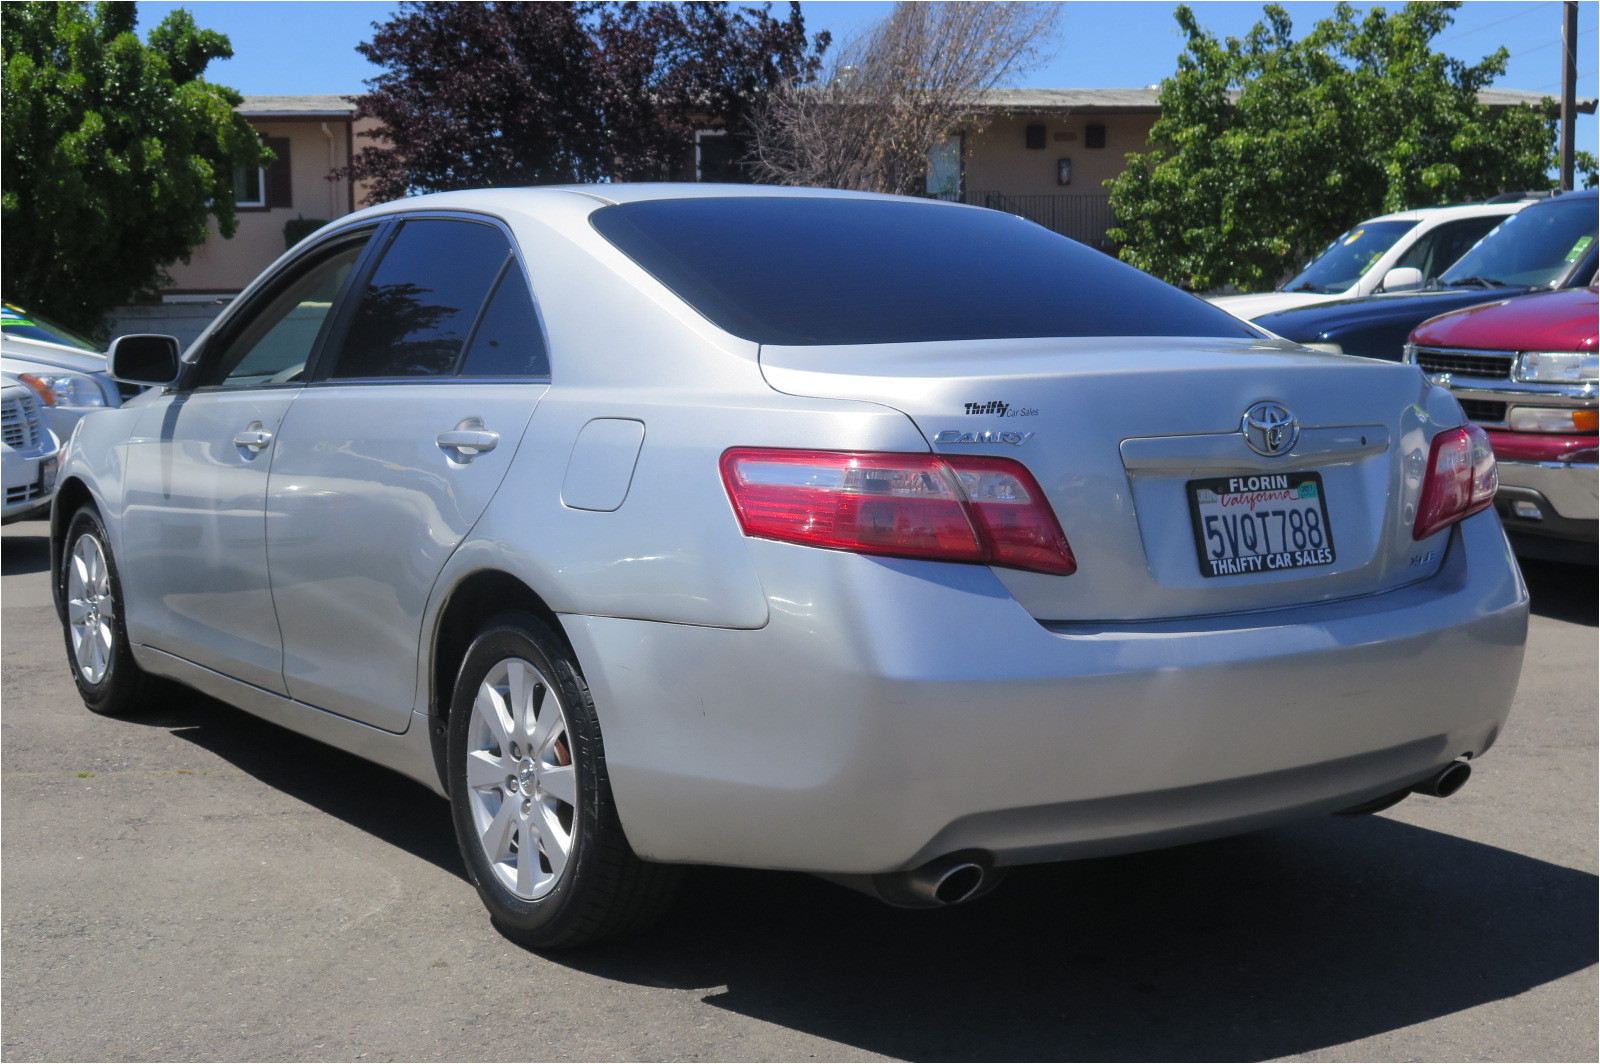
[{"label": "front door side window of the silver Camry, beside its mirror", "polygon": [[371,230],[328,245],[296,264],[274,290],[245,307],[219,346],[210,349],[197,387],[250,387],[299,379],[317,346],[334,296],[350,275]]}]

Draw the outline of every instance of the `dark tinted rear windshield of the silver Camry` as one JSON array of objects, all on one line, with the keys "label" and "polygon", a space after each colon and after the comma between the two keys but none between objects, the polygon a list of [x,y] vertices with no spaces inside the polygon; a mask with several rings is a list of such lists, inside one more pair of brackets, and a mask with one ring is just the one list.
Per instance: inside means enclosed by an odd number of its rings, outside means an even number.
[{"label": "dark tinted rear windshield of the silver Camry", "polygon": [[595,229],[758,344],[1259,336],[1149,274],[1000,211],[736,197],[605,206]]}]

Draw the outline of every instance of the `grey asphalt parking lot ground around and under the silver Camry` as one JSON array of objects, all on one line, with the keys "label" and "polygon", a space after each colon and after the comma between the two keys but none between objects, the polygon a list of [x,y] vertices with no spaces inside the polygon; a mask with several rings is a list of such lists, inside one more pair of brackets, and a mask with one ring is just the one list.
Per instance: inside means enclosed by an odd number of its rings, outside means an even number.
[{"label": "grey asphalt parking lot ground around and under the silver Camry", "polygon": [[85,710],[45,534],[3,531],[6,1061],[1597,1056],[1592,568],[1525,566],[1517,706],[1453,798],[931,914],[706,869],[650,934],[546,957],[421,786],[198,694]]}]

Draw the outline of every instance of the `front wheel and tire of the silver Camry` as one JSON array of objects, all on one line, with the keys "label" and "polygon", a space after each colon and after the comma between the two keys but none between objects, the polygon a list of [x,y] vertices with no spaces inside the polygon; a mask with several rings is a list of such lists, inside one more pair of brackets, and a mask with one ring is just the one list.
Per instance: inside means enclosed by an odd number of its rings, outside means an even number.
[{"label": "front wheel and tire of the silver Camry", "polygon": [[93,506],[72,515],[56,579],[67,667],[83,704],[106,717],[138,717],[154,710],[171,694],[171,686],[133,659],[117,560]]}]

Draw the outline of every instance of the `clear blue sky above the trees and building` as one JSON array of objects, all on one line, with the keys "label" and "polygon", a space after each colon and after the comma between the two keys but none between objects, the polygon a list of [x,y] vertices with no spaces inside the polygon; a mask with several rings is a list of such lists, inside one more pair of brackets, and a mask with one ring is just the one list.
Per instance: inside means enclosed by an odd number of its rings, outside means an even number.
[{"label": "clear blue sky above the trees and building", "polygon": [[[384,0],[139,3],[139,29],[149,30],[179,6],[189,8],[200,26],[227,34],[234,43],[234,58],[213,62],[206,77],[245,94],[266,96],[363,91],[363,82],[378,69],[355,51],[355,45],[371,37],[371,24],[387,19],[398,5]],[[891,6],[888,0],[805,0],[802,11],[808,30],[826,29],[838,40],[861,32]],[[1176,3],[1072,0],[1062,6],[1066,22],[1054,58],[1016,78],[1016,88],[1131,88],[1154,85],[1173,72],[1182,50],[1173,21]],[[1202,0],[1190,6],[1202,26],[1218,35],[1242,35],[1261,18],[1259,3]],[[1283,6],[1296,29],[1309,30],[1334,5],[1291,0]],[[1590,99],[1600,96],[1597,11],[1600,0],[1584,0],[1578,14],[1578,94]],[[1558,0],[1469,0],[1456,11],[1454,26],[1434,45],[1469,62],[1504,45],[1512,54],[1498,88],[1558,96],[1560,42]],[[1579,115],[1578,147],[1597,152],[1597,131],[1600,120],[1595,115]]]}]

